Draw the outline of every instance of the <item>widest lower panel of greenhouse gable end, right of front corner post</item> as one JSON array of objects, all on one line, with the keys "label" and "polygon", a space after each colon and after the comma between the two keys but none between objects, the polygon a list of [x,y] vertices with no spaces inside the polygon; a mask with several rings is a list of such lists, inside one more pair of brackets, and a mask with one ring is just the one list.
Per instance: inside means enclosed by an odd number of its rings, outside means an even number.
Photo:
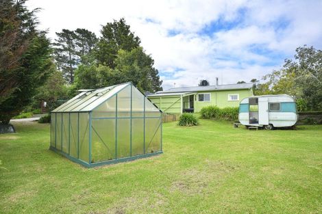
[{"label": "widest lower panel of greenhouse gable end, right of front corner post", "polygon": [[115,119],[92,120],[92,163],[115,159]]}]

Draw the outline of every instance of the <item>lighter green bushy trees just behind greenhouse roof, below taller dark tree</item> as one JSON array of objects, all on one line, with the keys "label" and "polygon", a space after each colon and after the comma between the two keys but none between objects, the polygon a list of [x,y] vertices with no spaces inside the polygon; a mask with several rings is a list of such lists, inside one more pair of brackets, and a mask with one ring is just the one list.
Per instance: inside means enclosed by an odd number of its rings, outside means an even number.
[{"label": "lighter green bushy trees just behind greenhouse roof, below taller dark tree", "polygon": [[132,51],[119,50],[115,63],[114,69],[101,64],[79,65],[75,72],[75,85],[77,88],[102,88],[132,81],[143,92],[162,90],[153,59],[141,47]]}]

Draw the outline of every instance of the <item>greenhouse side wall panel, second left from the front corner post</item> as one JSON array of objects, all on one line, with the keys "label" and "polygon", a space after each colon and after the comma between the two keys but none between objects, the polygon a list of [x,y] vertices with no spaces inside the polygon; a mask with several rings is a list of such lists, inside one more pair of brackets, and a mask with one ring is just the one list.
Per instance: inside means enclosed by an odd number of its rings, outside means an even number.
[{"label": "greenhouse side wall panel, second left from the front corner post", "polygon": [[78,145],[78,113],[71,113],[69,126],[69,155],[77,158],[77,145]]}]

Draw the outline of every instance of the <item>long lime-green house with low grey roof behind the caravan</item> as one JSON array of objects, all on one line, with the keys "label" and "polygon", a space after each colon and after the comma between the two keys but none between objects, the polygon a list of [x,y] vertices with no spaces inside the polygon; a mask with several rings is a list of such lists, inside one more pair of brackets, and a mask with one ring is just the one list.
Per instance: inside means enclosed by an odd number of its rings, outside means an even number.
[{"label": "long lime-green house with low grey roof behind the caravan", "polygon": [[147,94],[149,100],[164,113],[199,112],[203,107],[238,107],[239,102],[253,96],[253,83],[170,88]]}]

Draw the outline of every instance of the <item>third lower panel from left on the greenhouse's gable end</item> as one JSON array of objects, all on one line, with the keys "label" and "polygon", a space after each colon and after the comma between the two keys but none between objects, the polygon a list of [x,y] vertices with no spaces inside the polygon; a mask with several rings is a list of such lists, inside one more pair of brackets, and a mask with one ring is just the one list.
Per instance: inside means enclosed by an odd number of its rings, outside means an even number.
[{"label": "third lower panel from left on the greenhouse's gable end", "polygon": [[144,119],[132,119],[132,156],[144,154]]}]

